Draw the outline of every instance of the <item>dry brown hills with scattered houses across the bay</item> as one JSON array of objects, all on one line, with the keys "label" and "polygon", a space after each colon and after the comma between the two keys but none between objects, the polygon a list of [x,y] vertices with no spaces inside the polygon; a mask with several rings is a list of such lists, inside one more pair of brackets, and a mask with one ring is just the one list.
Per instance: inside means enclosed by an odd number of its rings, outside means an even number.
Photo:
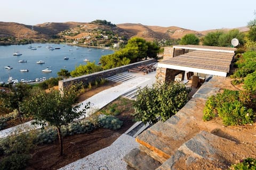
[{"label": "dry brown hills with scattered houses across the bay", "polygon": [[[242,32],[248,31],[247,27],[237,28]],[[218,29],[218,30],[230,30],[230,29]],[[37,25],[25,25],[14,22],[0,22],[0,38],[15,37],[16,39],[51,39],[61,37],[65,39],[81,39],[85,37],[100,37],[108,33],[111,38],[125,37],[129,39],[131,37],[141,37],[146,40],[152,41],[162,39],[178,39],[182,38],[188,33],[194,33],[198,37],[206,35],[206,33],[215,30],[195,31],[179,27],[159,27],[159,26],[147,26],[140,23],[123,23],[117,24],[116,27],[110,27],[108,25],[100,25],[94,23],[81,23],[81,22],[47,22]],[[88,39],[87,39],[88,40]],[[93,39],[92,39],[93,40]],[[101,42],[104,43],[104,42]]]}]

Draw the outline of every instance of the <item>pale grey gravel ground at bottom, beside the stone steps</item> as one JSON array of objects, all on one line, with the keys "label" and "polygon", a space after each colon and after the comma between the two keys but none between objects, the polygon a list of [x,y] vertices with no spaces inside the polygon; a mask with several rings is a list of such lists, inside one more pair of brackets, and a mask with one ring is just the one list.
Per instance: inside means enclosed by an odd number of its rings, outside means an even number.
[{"label": "pale grey gravel ground at bottom, beside the stone steps", "polygon": [[68,164],[61,170],[86,169],[86,170],[122,170],[126,169],[123,157],[133,148],[138,148],[135,138],[122,134],[109,147],[101,149],[93,154]]}]

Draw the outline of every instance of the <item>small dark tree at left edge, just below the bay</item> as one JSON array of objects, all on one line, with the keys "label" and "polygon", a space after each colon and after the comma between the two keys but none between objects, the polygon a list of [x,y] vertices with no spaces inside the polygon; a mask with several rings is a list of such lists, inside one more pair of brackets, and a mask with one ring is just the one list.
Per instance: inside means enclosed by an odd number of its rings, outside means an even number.
[{"label": "small dark tree at left edge, just below the bay", "polygon": [[20,111],[20,105],[25,97],[29,95],[30,86],[23,84],[22,82],[13,86],[9,85],[9,90],[0,91],[0,105],[11,111],[17,109],[20,122],[22,123],[22,112]]}]

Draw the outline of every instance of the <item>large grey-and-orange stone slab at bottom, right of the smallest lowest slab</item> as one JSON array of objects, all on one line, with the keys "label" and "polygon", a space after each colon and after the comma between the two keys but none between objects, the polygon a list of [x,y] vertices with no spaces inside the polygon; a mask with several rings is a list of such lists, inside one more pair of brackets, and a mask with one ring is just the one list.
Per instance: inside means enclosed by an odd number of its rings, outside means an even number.
[{"label": "large grey-and-orange stone slab at bottom, right of the smallest lowest slab", "polygon": [[234,141],[201,131],[183,143],[157,170],[193,169],[193,167],[194,169],[196,167],[197,169],[228,169],[231,163],[226,158],[229,157],[227,154],[230,154],[230,150],[221,147],[227,145],[238,147]]}]

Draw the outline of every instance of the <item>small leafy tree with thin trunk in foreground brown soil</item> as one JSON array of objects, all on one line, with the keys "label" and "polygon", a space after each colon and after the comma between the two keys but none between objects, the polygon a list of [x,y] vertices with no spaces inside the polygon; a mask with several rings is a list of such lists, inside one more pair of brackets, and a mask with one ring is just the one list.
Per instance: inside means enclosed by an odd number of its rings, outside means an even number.
[{"label": "small leafy tree with thin trunk in foreground brown soil", "polygon": [[63,155],[62,134],[60,131],[61,125],[66,125],[81,117],[89,108],[87,103],[83,109],[79,109],[82,104],[75,105],[78,95],[78,88],[71,86],[63,90],[51,90],[38,92],[37,95],[27,98],[22,103],[24,113],[33,116],[35,124],[55,126],[58,132],[60,143],[60,155]]}]

